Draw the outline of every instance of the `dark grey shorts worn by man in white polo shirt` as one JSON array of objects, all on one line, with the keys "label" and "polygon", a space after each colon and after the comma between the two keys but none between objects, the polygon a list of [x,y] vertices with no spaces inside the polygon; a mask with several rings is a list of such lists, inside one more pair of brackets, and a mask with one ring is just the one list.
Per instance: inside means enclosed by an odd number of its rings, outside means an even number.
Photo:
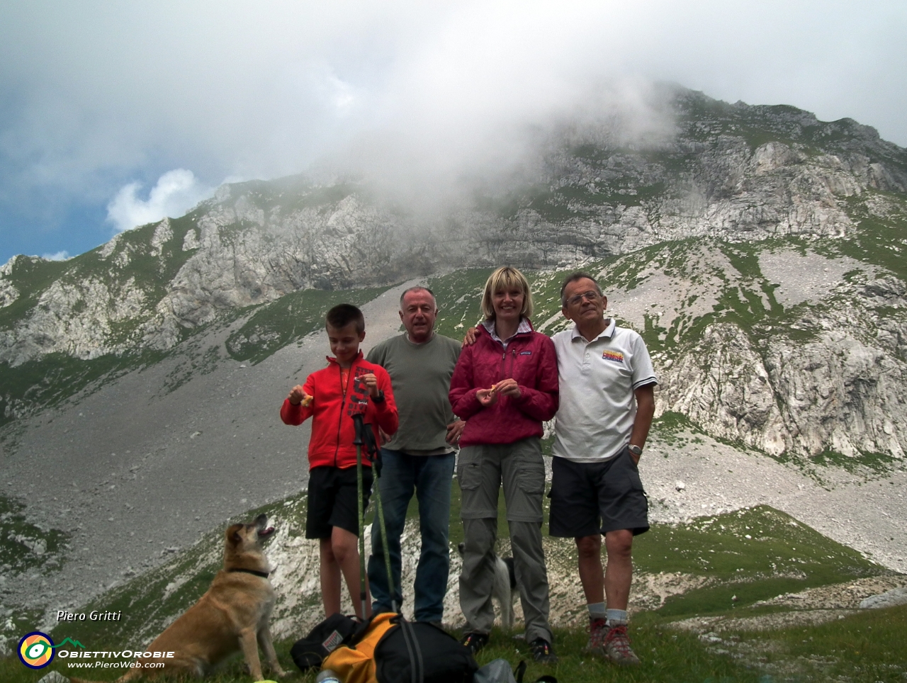
[{"label": "dark grey shorts worn by man in white polo shirt", "polygon": [[551,470],[551,536],[649,531],[649,500],[626,448],[603,463],[574,463],[554,456]]}]

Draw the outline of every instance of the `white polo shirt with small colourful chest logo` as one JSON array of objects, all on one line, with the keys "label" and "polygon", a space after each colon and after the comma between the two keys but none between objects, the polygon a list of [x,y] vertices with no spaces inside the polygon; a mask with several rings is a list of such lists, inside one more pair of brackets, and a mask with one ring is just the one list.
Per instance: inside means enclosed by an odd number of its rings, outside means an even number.
[{"label": "white polo shirt with small colourful chest logo", "polygon": [[642,337],[614,318],[590,342],[572,329],[554,337],[561,405],[553,454],[574,463],[600,463],[629,444],[636,419],[633,392],[658,384]]}]

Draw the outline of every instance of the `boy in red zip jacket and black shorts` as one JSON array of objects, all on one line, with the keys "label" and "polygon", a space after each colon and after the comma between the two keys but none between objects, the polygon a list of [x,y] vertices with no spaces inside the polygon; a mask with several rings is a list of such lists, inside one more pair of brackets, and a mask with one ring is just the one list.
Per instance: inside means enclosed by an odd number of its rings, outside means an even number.
[{"label": "boy in red zip jacket and black shorts", "polygon": [[[296,385],[280,408],[285,424],[302,424],[312,416],[312,435],[308,441],[308,512],[306,538],[318,539],[321,557],[321,599],[325,615],[340,611],[340,575],[353,600],[359,619],[371,616],[371,598],[367,613],[360,614],[359,535],[356,502],[356,428],[347,413],[357,386],[368,392],[365,423],[375,433],[397,430],[397,410],[390,376],[381,366],[362,357],[359,344],[366,338],[366,319],[357,307],[340,304],[327,311],[327,339],[334,358],[327,367],[312,373],[306,384]],[[372,491],[371,463],[363,457],[363,508]],[[366,588],[367,590],[367,588]]]}]

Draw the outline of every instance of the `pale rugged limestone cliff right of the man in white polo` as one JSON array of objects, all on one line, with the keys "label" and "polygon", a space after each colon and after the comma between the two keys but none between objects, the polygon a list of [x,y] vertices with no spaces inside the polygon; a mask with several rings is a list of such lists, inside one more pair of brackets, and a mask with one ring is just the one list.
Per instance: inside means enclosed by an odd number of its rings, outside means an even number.
[{"label": "pale rugged limestone cliff right of the man in white polo", "polygon": [[[900,334],[907,327],[900,326]],[[659,408],[769,454],[901,459],[907,435],[903,352],[847,329],[811,343],[778,341],[763,354],[735,325],[707,327],[701,344],[663,373]]]}]

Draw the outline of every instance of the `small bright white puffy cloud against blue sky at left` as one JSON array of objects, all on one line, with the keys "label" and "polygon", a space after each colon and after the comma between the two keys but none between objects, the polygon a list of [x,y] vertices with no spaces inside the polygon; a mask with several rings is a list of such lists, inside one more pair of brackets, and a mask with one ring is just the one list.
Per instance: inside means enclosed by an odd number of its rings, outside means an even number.
[{"label": "small bright white puffy cloud against blue sky at left", "polygon": [[151,188],[147,200],[137,196],[141,183],[124,185],[107,205],[107,220],[118,231],[145,225],[167,216],[177,217],[211,196],[212,189],[202,185],[192,171],[174,169],[167,171]]}]

